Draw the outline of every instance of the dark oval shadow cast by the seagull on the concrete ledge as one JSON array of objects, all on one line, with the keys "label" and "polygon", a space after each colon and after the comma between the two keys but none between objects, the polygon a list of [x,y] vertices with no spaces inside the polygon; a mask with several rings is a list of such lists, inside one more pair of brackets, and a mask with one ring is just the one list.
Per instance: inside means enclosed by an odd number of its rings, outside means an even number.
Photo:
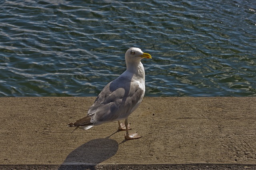
[{"label": "dark oval shadow cast by the seagull on the concrete ledge", "polygon": [[97,164],[111,158],[118,150],[118,142],[110,139],[110,136],[90,140],[85,144],[82,144],[68,154],[58,170],[94,170]]}]

